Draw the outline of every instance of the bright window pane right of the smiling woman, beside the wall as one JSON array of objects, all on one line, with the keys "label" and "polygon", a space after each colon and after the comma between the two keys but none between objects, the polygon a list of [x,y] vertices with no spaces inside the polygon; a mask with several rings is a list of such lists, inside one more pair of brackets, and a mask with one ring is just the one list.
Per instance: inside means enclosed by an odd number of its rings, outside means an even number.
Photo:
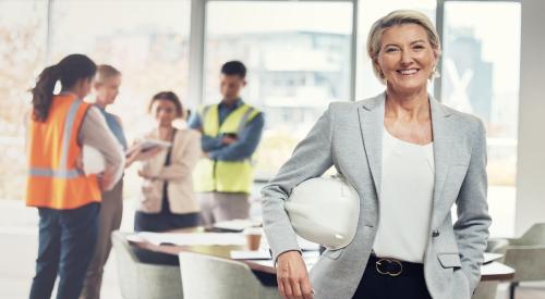
[{"label": "bright window pane right of the smiling woman, beside the wall", "polygon": [[[485,16],[485,17],[483,17]],[[487,129],[493,234],[511,235],[520,68],[520,3],[445,3],[443,101]]]}]

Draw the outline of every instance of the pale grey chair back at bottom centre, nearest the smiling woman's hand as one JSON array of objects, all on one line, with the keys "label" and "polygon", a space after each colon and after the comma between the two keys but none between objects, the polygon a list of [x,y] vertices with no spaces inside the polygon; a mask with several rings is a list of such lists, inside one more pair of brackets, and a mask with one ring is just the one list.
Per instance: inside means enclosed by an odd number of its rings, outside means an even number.
[{"label": "pale grey chair back at bottom centre, nearest the smiling woman's hand", "polygon": [[276,287],[265,287],[241,262],[180,252],[185,299],[279,299]]}]

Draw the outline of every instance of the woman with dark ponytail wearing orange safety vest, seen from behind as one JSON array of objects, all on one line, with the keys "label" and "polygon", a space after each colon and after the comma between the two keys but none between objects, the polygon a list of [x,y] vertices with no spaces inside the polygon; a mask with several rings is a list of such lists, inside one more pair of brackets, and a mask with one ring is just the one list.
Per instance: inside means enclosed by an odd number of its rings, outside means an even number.
[{"label": "woman with dark ponytail wearing orange safety vest, seen from behind", "polygon": [[[38,208],[39,246],[31,299],[50,298],[57,276],[57,298],[78,298],[97,239],[100,192],[123,172],[122,147],[100,111],[83,101],[96,70],[86,55],[71,54],[46,67],[32,89],[26,204]],[[53,95],[58,82],[61,92]],[[81,170],[83,145],[104,155],[100,176]]]}]

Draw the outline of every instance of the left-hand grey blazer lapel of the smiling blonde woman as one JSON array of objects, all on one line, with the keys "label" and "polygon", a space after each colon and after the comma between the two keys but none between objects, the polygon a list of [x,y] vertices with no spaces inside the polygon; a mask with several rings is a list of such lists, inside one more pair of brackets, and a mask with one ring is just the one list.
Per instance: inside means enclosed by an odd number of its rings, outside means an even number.
[{"label": "left-hand grey blazer lapel of the smiling blonde woman", "polygon": [[380,195],[383,167],[384,100],[385,94],[382,94],[363,101],[363,104],[358,108],[363,146],[377,198]]}]

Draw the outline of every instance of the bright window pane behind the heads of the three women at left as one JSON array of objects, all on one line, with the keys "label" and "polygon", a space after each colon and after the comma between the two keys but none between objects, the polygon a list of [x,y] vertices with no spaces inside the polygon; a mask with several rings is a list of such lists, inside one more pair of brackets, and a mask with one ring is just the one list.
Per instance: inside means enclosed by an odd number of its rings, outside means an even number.
[{"label": "bright window pane behind the heads of the three women at left", "polygon": [[[85,53],[97,64],[108,63],[123,74],[121,90],[110,111],[120,115],[128,139],[149,130],[147,114],[153,95],[187,92],[191,2],[63,1],[52,2],[50,62],[70,53]],[[93,100],[93,95],[89,99]],[[140,190],[136,167],[128,170],[125,197]]]}]

